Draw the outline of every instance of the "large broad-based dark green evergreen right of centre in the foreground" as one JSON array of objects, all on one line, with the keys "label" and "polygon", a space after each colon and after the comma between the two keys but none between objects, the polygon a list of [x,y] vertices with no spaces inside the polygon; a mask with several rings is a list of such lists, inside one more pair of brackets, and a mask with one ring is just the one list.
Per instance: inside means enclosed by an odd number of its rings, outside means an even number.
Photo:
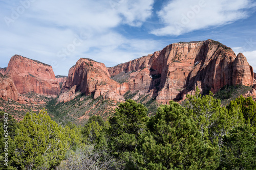
[{"label": "large broad-based dark green evergreen right of centre in the foreground", "polygon": [[140,136],[134,154],[140,169],[214,169],[218,167],[218,149],[202,140],[195,122],[186,110],[170,101],[151,117],[147,133]]}]

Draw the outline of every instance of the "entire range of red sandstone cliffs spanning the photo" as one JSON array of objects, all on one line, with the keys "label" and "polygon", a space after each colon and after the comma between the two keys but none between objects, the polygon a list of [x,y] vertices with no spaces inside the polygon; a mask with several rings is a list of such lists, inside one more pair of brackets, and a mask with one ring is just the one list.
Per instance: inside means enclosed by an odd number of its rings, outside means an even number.
[{"label": "entire range of red sandstone cliffs spanning the photo", "polygon": [[154,54],[108,68],[80,58],[67,78],[56,79],[50,65],[19,55],[13,56],[0,73],[0,98],[20,103],[33,101],[19,93],[56,96],[61,83],[58,102],[68,102],[80,93],[116,101],[123,101],[125,93],[137,93],[161,103],[183,100],[186,94],[195,92],[196,86],[203,93],[215,93],[225,85],[256,83],[243,54],[236,56],[231,48],[211,39],[169,44]]}]

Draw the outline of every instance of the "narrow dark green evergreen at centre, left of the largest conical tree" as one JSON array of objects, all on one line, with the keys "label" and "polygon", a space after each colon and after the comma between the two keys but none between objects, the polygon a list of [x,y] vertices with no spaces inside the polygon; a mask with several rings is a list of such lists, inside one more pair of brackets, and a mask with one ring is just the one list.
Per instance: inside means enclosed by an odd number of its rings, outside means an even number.
[{"label": "narrow dark green evergreen at centre, left of the largest conical tree", "polygon": [[138,137],[146,129],[147,108],[133,100],[121,103],[110,118],[109,146],[115,155],[133,152],[138,146]]}]

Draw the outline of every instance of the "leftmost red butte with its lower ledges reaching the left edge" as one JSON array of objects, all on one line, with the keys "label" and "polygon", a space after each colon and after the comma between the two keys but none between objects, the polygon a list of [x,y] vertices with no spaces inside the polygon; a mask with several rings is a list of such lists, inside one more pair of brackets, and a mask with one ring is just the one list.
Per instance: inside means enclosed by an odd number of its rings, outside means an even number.
[{"label": "leftmost red butte with its lower ledges reaching the left edge", "polygon": [[29,99],[22,94],[35,92],[44,95],[56,95],[60,87],[50,65],[14,55],[7,68],[0,69],[0,98],[14,100],[22,104],[28,102],[44,103]]}]

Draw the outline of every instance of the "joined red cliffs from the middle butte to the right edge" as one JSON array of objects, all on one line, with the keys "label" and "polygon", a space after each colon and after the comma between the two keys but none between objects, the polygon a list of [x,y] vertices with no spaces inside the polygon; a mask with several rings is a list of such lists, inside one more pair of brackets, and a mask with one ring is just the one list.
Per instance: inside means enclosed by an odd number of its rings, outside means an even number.
[{"label": "joined red cliffs from the middle butte to the right edge", "polygon": [[194,93],[196,86],[203,92],[217,92],[236,84],[253,84],[252,67],[242,54],[236,56],[231,48],[209,39],[170,44],[154,54],[109,68],[81,58],[70,69],[59,102],[67,101],[68,96],[72,100],[68,93],[73,86],[72,93],[80,91],[94,98],[123,100],[125,92],[139,91],[165,103]]}]

